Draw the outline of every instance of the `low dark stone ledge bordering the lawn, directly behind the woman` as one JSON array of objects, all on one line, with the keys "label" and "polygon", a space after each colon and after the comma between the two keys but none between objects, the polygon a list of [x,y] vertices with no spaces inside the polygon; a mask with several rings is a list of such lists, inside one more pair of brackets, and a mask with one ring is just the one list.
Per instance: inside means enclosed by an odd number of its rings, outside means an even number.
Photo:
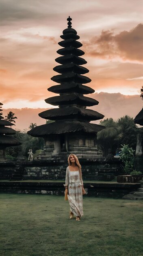
[{"label": "low dark stone ledge bordering the lawn, directly behind the woman", "polygon": [[[0,181],[1,193],[26,193],[26,194],[45,194],[45,195],[63,195],[63,180],[21,180],[21,181]],[[117,183],[117,182],[99,182],[85,181],[84,188],[86,195],[99,198],[122,198],[131,191],[137,191],[141,187],[140,183]],[[64,200],[64,198],[63,198]]]}]

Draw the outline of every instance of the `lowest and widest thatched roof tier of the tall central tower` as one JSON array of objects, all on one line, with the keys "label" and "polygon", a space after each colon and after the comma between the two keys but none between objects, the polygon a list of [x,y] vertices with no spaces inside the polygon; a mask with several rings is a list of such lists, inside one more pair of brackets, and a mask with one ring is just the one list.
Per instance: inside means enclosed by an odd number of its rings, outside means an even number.
[{"label": "lowest and widest thatched roof tier of the tall central tower", "polygon": [[50,134],[65,134],[71,132],[97,133],[105,126],[81,121],[56,121],[32,128],[27,133],[33,137],[45,137]]}]

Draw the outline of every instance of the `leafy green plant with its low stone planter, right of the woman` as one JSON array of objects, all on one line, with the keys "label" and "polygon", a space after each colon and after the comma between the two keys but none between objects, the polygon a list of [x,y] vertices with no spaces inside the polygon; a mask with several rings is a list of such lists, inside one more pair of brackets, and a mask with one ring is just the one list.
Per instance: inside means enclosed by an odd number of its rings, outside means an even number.
[{"label": "leafy green plant with its low stone planter, right of the woman", "polygon": [[121,145],[119,157],[123,163],[122,168],[124,175],[117,176],[117,182],[137,182],[140,180],[138,175],[131,175],[134,171],[134,151],[129,145]]}]

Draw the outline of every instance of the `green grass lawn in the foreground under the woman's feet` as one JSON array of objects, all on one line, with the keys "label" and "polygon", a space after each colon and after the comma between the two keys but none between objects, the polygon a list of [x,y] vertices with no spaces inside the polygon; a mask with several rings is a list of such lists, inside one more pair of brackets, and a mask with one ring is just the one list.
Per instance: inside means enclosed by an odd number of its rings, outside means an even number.
[{"label": "green grass lawn in the foreground under the woman's feet", "polygon": [[62,196],[0,194],[0,256],[143,256],[143,202],[84,197],[81,221]]}]

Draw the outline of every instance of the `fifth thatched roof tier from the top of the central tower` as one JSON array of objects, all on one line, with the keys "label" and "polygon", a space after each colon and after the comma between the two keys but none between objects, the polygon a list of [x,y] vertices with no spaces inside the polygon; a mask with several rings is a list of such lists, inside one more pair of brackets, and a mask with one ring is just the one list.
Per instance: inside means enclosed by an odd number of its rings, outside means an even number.
[{"label": "fifth thatched roof tier from the top of the central tower", "polygon": [[65,63],[74,63],[77,65],[84,65],[87,63],[87,61],[85,61],[84,58],[75,56],[73,54],[68,54],[65,56],[61,56],[55,59],[56,62],[60,63],[60,64],[65,64]]}]

